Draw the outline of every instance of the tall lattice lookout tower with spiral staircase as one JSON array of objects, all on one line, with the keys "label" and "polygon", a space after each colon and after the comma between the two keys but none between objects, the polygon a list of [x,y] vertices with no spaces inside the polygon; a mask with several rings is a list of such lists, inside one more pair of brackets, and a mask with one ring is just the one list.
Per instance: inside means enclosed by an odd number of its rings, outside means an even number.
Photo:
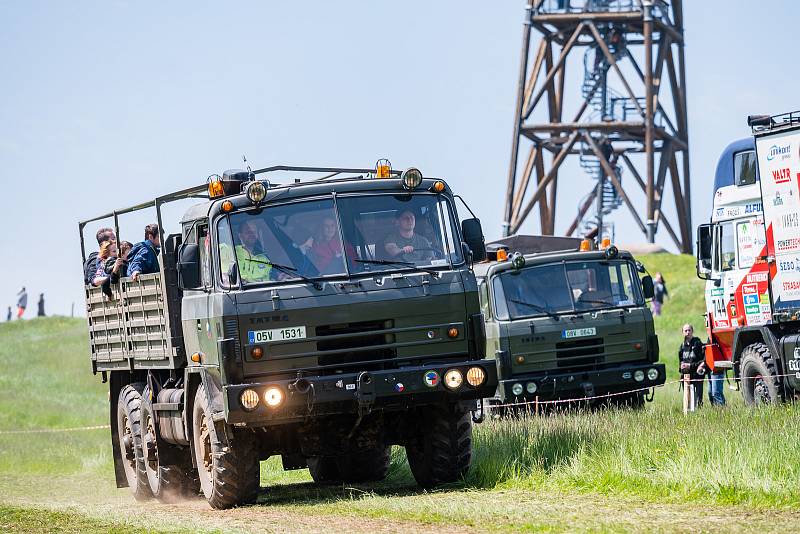
[{"label": "tall lattice lookout tower with spiral staircase", "polygon": [[[568,65],[582,72],[565,83]],[[565,235],[602,235],[625,205],[650,243],[663,228],[691,253],[688,139],[681,0],[528,0],[504,235],[537,207],[541,232],[554,234],[559,169],[573,159],[594,185]],[[662,211],[668,179],[673,223]]]}]

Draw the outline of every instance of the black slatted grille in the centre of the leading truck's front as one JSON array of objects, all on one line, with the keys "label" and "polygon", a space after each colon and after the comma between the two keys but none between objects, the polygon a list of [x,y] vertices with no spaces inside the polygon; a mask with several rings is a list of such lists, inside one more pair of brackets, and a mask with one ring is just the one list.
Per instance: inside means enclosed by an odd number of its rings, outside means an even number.
[{"label": "black slatted grille in the centre of the leading truck's front", "polygon": [[[397,357],[397,351],[386,347],[395,342],[395,335],[385,332],[391,328],[394,328],[394,321],[391,319],[318,326],[317,337],[328,339],[317,341],[317,350],[320,353],[331,352],[331,354],[320,354],[319,364],[347,367],[358,363],[359,367],[365,367],[363,362],[375,362],[372,366],[367,365],[365,369],[396,367],[391,360]],[[369,350],[369,347],[376,348]],[[336,368],[329,369],[326,374],[337,371]]]}]

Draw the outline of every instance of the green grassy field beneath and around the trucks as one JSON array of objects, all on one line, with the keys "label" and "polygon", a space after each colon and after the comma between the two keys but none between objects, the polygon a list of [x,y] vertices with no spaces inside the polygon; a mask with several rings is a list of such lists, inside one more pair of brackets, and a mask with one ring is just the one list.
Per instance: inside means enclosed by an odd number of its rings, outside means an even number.
[{"label": "green grassy field beneath and around the trucks", "polygon": [[[664,274],[670,299],[657,319],[662,361],[677,378],[680,327],[703,330],[692,258],[642,258]],[[396,449],[381,484],[320,488],[307,470],[262,464],[262,506],[211,512],[202,500],[137,505],[113,484],[109,431],[9,434],[104,424],[107,393],[92,376],[82,320],[0,324],[0,529],[75,525],[128,532],[262,529],[751,530],[800,522],[800,413],[794,405],[729,406],[684,416],[676,385],[643,411],[487,421],[475,428],[462,484],[421,492]],[[713,528],[712,528],[713,527]],[[44,527],[42,527],[44,528]],[[72,528],[72,527],[70,527]]]}]

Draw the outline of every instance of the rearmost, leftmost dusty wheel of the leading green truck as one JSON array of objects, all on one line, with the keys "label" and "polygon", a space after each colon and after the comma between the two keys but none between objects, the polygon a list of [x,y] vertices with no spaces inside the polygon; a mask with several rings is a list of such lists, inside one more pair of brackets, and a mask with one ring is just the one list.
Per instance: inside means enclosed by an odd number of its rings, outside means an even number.
[{"label": "rearmost, leftmost dusty wheel of the leading green truck", "polygon": [[142,391],[144,384],[128,384],[117,400],[117,440],[128,487],[137,501],[153,496],[142,456]]}]

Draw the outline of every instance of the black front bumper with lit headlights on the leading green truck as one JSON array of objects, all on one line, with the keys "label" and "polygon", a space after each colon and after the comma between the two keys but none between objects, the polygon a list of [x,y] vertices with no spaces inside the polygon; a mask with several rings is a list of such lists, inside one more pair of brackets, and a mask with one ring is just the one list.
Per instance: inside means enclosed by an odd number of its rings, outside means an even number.
[{"label": "black front bumper with lit headlights on the leading green truck", "polygon": [[[482,369],[486,376],[477,387],[470,386],[466,379],[467,371],[473,367]],[[461,371],[464,378],[461,386],[455,389],[444,384],[445,373],[451,369]],[[497,384],[494,360],[475,360],[305,377],[300,380],[235,384],[223,388],[223,397],[225,419],[229,424],[267,426],[302,421],[312,416],[366,414],[376,410],[404,411],[442,402],[476,401],[494,395]],[[265,393],[271,388],[277,388],[282,395],[282,401],[276,406],[267,405],[265,400]],[[258,405],[249,411],[241,402],[241,395],[247,389],[252,389],[259,397]]]}]

